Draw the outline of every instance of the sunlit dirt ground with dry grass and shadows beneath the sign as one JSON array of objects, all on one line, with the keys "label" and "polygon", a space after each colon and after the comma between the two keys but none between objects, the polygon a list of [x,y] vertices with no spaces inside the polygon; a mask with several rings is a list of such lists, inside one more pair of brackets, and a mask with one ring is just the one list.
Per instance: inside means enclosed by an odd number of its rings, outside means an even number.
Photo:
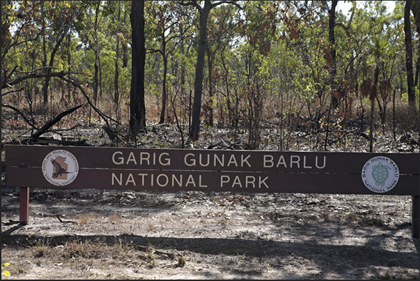
[{"label": "sunlit dirt ground with dry grass and shadows beneath the sign", "polygon": [[2,185],[2,279],[419,279],[411,208],[410,196],[32,188],[22,226],[19,189]]}]

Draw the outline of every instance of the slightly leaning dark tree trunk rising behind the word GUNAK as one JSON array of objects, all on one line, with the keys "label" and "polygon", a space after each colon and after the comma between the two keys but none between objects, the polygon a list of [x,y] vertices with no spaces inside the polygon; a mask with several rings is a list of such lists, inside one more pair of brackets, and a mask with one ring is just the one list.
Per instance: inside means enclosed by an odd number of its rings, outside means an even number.
[{"label": "slightly leaning dark tree trunk rising behind the word GUNAK", "polygon": [[207,40],[207,20],[210,13],[211,3],[206,0],[204,8],[200,14],[200,40],[199,51],[197,53],[196,63],[196,79],[194,82],[194,102],[192,105],[192,123],[189,137],[195,142],[199,139],[200,130],[200,112],[201,112],[201,96],[203,93],[203,69],[205,61],[205,45]]}]

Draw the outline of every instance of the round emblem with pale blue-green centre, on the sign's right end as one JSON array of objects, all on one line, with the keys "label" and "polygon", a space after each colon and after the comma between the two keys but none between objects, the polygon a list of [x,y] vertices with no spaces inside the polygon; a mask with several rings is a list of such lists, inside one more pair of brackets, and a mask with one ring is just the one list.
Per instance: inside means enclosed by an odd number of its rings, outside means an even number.
[{"label": "round emblem with pale blue-green centre, on the sign's right end", "polygon": [[387,192],[398,183],[400,172],[396,162],[384,156],[368,160],[361,169],[361,180],[373,192]]}]

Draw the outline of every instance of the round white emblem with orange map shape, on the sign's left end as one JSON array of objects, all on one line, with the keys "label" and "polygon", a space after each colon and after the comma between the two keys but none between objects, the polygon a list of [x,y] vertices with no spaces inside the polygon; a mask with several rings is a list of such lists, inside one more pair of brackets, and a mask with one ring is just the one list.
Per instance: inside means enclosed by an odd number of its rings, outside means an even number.
[{"label": "round white emblem with orange map shape, on the sign's left end", "polygon": [[68,185],[79,174],[79,163],[75,155],[65,150],[52,151],[42,162],[42,174],[53,185]]}]

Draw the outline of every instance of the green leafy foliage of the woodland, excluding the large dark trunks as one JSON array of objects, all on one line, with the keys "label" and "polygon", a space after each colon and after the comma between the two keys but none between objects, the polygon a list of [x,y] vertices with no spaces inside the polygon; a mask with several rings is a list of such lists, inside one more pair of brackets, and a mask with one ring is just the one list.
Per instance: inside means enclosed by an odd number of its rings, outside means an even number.
[{"label": "green leafy foliage of the woodland, excluding the large dark trunks", "polygon": [[[373,77],[377,66],[380,66],[378,86],[385,85],[384,81],[388,83],[383,88],[387,91],[378,96],[382,107],[389,102],[394,89],[396,96],[406,102],[404,1],[396,1],[393,11],[385,9],[384,1],[357,1],[351,22],[350,14],[336,11],[334,83],[329,81],[331,50],[325,1],[237,4],[242,8],[239,12],[235,5],[222,4],[212,8],[208,17],[203,102],[214,111],[219,123],[236,124],[233,130],[238,131],[240,126],[258,128],[273,110],[278,112],[275,122],[279,123],[302,110],[304,116],[322,115],[329,105],[330,93],[339,93],[337,114],[352,116],[352,112],[359,110],[350,108],[355,106],[353,98],[359,94],[362,82]],[[2,1],[1,7],[2,77],[7,77],[15,67],[8,81],[47,66],[63,35],[52,71],[70,71],[70,79],[82,85],[88,95],[94,93],[98,79],[98,93],[102,93],[98,102],[103,102],[99,103],[100,109],[126,107],[132,78],[131,1]],[[22,10],[20,17],[16,16],[18,10]],[[182,6],[179,1],[146,1],[145,22],[148,107],[162,105],[165,56],[166,93],[169,99],[175,99],[179,119],[188,122],[190,91],[194,96],[199,13],[196,7]],[[69,29],[63,34],[66,27]],[[414,62],[419,59],[418,36],[416,25],[412,24]],[[116,67],[120,100],[118,105],[109,106],[106,102],[114,101],[116,91]],[[52,95],[61,95],[63,83],[53,82]],[[24,95],[31,93],[34,100],[40,100],[36,95],[41,93],[36,89],[42,88],[45,79],[25,83]],[[14,89],[22,86],[17,84]],[[418,96],[418,88],[416,91]],[[78,89],[70,87],[70,92],[63,96],[68,102],[82,97]],[[20,96],[11,99],[22,100]],[[159,115],[153,110],[148,111],[148,119]],[[129,112],[126,114],[118,120],[125,122]],[[255,135],[257,145],[258,130],[249,130],[249,135]]]}]

